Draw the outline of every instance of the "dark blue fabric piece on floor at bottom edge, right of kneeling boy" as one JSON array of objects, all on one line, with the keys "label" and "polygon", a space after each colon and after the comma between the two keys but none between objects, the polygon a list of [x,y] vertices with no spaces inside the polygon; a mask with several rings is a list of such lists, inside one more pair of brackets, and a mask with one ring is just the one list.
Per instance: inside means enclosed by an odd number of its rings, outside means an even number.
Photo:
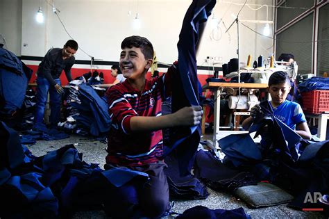
[{"label": "dark blue fabric piece on floor at bottom edge, right of kneeling boy", "polygon": [[233,210],[225,210],[225,209],[208,209],[205,206],[194,206],[191,209],[187,209],[183,212],[182,215],[177,216],[177,219],[199,219],[199,218],[207,218],[207,219],[222,219],[222,218],[251,218],[248,214],[244,212],[244,209],[233,209]]}]

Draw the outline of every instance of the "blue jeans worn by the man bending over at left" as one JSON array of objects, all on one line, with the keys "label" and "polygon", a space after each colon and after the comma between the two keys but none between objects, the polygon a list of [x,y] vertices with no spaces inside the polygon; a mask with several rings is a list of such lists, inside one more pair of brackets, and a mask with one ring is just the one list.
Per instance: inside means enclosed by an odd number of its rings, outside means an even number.
[{"label": "blue jeans worn by the man bending over at left", "polygon": [[[54,79],[58,85],[61,85],[60,79]],[[49,104],[51,114],[49,121],[56,126],[60,121],[60,104],[62,96],[58,94],[56,88],[51,86],[49,81],[44,77],[37,77],[37,104],[35,106],[35,123],[41,123],[44,118],[44,108],[46,108],[47,97],[49,92]]]}]

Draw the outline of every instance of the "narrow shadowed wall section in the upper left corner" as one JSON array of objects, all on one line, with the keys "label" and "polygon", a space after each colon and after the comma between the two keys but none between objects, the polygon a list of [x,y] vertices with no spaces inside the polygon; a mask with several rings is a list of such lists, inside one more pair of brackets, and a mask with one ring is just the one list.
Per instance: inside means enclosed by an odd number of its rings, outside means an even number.
[{"label": "narrow shadowed wall section in the upper left corner", "polygon": [[[22,0],[0,0],[0,34],[15,55],[21,55]],[[0,42],[3,40],[0,38]]]}]

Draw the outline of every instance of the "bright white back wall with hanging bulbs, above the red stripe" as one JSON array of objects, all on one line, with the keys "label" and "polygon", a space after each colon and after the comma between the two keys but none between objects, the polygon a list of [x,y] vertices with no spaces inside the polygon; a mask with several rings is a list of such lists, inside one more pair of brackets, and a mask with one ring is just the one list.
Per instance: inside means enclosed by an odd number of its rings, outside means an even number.
[{"label": "bright white back wall with hanging bulbs, above the red stripe", "polygon": [[[3,0],[1,0],[2,2]],[[19,0],[15,0],[18,2]],[[42,9],[45,13],[44,24],[35,22],[35,14],[39,7],[39,0],[22,0],[22,55],[44,56],[50,47],[62,47],[69,39],[58,17],[52,13],[48,2],[42,0]],[[226,0],[228,1],[228,0]],[[223,18],[228,27],[233,22],[231,14],[237,15],[244,0],[217,1],[213,13],[214,17]],[[6,0],[6,4],[12,1]],[[189,0],[53,0],[56,8],[60,10],[59,16],[65,24],[70,35],[77,40],[81,49],[94,56],[107,61],[119,59],[120,43],[128,35],[143,35],[153,43],[158,60],[163,63],[172,63],[176,60],[178,52],[176,44],[183,22],[185,12],[191,3]],[[248,3],[272,4],[272,0],[258,0]],[[251,6],[258,8],[258,6]],[[128,11],[131,15],[128,16]],[[141,27],[133,29],[133,21],[139,13]],[[12,15],[19,17],[18,15]],[[240,19],[266,19],[266,8],[251,10],[244,7],[239,15]],[[269,20],[273,20],[272,10],[269,8]],[[230,58],[236,58],[237,49],[237,24],[226,31],[223,24],[219,24],[212,34],[213,26],[208,26],[203,34],[201,47],[198,54],[198,65],[205,63],[206,56],[213,56],[220,60],[214,62],[227,63]],[[1,22],[2,23],[2,22]],[[262,33],[264,24],[246,23],[252,29]],[[0,29],[1,30],[1,29]],[[12,36],[6,38],[8,44],[16,44]],[[23,44],[27,44],[26,47]],[[240,26],[240,53],[241,60],[246,61],[248,54],[255,57],[260,54],[267,56],[273,48],[272,40],[258,36],[252,31]],[[76,58],[89,60],[90,58],[81,51]],[[221,65],[217,65],[221,66]]]}]

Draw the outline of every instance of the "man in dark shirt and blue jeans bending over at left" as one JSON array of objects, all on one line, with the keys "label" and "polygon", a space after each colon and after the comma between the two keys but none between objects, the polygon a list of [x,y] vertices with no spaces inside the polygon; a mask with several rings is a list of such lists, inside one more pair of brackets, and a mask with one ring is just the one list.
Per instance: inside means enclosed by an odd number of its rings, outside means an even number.
[{"label": "man in dark shirt and blue jeans bending over at left", "polygon": [[78,43],[68,40],[64,47],[47,51],[37,70],[37,104],[35,108],[35,126],[40,125],[44,117],[44,108],[49,92],[51,115],[49,121],[56,127],[60,120],[60,104],[64,89],[61,86],[60,74],[65,71],[68,81],[72,81],[71,67],[74,65],[74,54],[78,50]]}]

